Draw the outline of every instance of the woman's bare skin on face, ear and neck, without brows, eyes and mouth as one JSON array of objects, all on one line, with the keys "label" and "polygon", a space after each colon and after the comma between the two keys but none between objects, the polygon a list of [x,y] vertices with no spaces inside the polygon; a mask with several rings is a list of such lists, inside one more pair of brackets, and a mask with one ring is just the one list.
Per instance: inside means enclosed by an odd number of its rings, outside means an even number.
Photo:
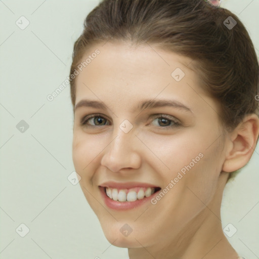
[{"label": "woman's bare skin on face, ear and neck, without brows, eyes and mouth", "polygon": [[[188,67],[191,59],[126,42],[92,46],[85,57],[96,49],[100,54],[76,77],[75,105],[83,99],[101,100],[107,109],[75,110],[73,162],[107,240],[127,247],[131,259],[237,258],[222,231],[222,194],[229,172],[252,156],[258,117],[247,115],[234,132],[224,134],[219,103],[199,87],[198,74]],[[179,82],[171,76],[176,68],[185,73]],[[144,99],[177,100],[193,113],[175,107],[133,112]],[[99,124],[98,116],[80,124],[95,113],[103,118]],[[153,114],[170,115],[181,125],[170,127],[174,122],[163,124]],[[128,133],[119,127],[125,119],[133,125]],[[163,189],[199,153],[204,156],[155,205],[147,202],[126,211],[105,205],[98,185],[136,181]],[[124,224],[133,229],[127,237],[120,232]]]}]

